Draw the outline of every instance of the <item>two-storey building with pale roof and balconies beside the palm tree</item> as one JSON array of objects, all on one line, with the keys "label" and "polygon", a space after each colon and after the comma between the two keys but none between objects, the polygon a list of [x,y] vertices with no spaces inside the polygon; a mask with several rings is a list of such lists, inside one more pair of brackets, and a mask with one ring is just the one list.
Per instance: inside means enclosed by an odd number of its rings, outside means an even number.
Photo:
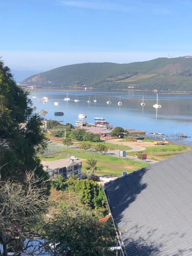
[{"label": "two-storey building with pale roof and balconies beside the palm tree", "polygon": [[67,179],[71,174],[75,174],[81,179],[81,160],[71,160],[66,158],[55,161],[42,161],[41,164],[44,166],[45,172],[49,173],[51,178],[55,175],[60,175]]}]

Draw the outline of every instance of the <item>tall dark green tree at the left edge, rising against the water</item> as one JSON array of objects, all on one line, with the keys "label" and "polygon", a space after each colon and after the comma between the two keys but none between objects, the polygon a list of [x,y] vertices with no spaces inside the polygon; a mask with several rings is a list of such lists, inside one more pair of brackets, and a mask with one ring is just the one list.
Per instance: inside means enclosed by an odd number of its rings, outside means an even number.
[{"label": "tall dark green tree at the left edge, rising against the water", "polygon": [[45,176],[37,157],[45,147],[39,116],[28,93],[17,86],[8,67],[0,60],[0,167],[1,179],[23,180],[26,170]]}]

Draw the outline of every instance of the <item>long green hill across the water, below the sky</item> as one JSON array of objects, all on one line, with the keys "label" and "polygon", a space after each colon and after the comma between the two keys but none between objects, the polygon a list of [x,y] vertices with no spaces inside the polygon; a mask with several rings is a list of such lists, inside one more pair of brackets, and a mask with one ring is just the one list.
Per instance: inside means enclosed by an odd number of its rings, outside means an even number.
[{"label": "long green hill across the water, below the sky", "polygon": [[133,63],[81,63],[26,78],[42,88],[192,91],[192,57],[157,58]]}]

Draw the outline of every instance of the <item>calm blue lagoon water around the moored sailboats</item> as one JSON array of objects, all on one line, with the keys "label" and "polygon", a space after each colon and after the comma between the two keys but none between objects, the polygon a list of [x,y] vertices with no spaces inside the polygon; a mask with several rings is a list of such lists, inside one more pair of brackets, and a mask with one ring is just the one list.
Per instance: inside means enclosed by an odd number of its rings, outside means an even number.
[{"label": "calm blue lagoon water around the moored sailboats", "polygon": [[[67,92],[32,92],[30,98],[37,107],[36,111],[46,110],[47,119],[63,120],[64,123],[70,122],[75,124],[78,114],[87,114],[89,123],[94,122],[95,116],[103,116],[113,126],[122,126],[127,129],[141,129],[146,133],[185,133],[192,136],[192,94],[163,94],[158,93],[159,104],[162,105],[158,109],[156,119],[156,110],[153,104],[156,103],[156,93],[153,92],[132,92],[132,91],[116,91],[116,92],[69,92],[70,101],[63,101],[67,97]],[[37,96],[33,99],[32,96]],[[48,103],[41,103],[41,98],[47,96]],[[145,106],[142,111],[142,96],[144,96]],[[88,104],[88,100],[91,103]],[[97,99],[97,103],[93,100]],[[112,101],[111,105],[106,101]],[[80,102],[74,102],[78,98]],[[121,98],[122,106],[118,106],[117,102]],[[54,102],[60,104],[54,106]],[[55,117],[55,111],[65,113],[63,117]],[[187,139],[192,141],[192,138]]]}]

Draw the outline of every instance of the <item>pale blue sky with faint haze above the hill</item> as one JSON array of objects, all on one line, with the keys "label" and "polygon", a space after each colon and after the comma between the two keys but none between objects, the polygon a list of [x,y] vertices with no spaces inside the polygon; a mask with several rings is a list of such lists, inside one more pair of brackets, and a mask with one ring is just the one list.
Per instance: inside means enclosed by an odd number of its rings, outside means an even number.
[{"label": "pale blue sky with faint haze above the hill", "polygon": [[0,56],[38,72],[192,55],[190,0],[0,0]]}]

